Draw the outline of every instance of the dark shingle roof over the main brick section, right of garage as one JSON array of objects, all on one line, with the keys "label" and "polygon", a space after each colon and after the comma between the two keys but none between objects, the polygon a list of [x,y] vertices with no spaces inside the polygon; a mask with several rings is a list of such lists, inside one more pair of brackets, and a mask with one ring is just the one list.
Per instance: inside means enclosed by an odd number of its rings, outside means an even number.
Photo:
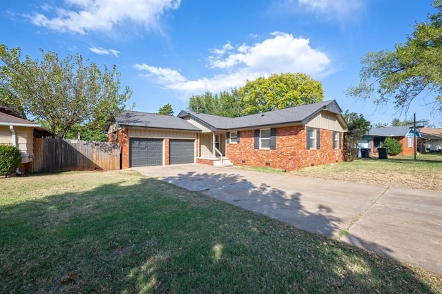
[{"label": "dark shingle roof over the main brick section, right of garage", "polygon": [[307,124],[311,117],[323,109],[327,109],[336,114],[340,114],[341,112],[336,101],[329,100],[303,106],[262,112],[256,115],[247,115],[244,117],[218,117],[216,115],[206,115],[203,113],[184,110],[180,112],[178,117],[190,115],[191,117],[204,121],[214,129],[229,130],[282,124]]}]

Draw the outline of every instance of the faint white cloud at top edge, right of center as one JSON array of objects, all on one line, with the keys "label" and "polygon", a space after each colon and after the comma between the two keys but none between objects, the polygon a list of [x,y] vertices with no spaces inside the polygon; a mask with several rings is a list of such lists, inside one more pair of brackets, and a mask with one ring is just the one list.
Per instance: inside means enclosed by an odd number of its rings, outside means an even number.
[{"label": "faint white cloud at top edge, right of center", "polygon": [[360,17],[363,0],[285,0],[283,7],[292,9],[298,6],[318,17],[347,21]]}]

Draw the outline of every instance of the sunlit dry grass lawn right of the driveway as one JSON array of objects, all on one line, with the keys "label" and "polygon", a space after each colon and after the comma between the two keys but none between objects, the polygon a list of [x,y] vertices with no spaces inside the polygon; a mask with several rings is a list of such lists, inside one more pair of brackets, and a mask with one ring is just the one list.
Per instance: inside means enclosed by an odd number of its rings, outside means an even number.
[{"label": "sunlit dry grass lawn right of the driveway", "polygon": [[356,159],[294,170],[291,175],[442,191],[442,154]]}]

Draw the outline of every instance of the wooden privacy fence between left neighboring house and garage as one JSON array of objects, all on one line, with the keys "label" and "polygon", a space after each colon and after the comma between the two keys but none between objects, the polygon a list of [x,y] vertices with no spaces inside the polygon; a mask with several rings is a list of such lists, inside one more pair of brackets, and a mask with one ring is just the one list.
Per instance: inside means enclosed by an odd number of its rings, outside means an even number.
[{"label": "wooden privacy fence between left neighboring house and garage", "polygon": [[27,173],[119,169],[118,143],[72,139],[34,139],[34,159]]}]

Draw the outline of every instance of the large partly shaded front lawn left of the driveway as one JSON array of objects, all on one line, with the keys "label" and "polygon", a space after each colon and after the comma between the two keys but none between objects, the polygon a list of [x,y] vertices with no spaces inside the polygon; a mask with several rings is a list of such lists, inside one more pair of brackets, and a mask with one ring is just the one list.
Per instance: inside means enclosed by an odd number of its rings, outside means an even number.
[{"label": "large partly shaded front lawn left of the driveway", "polygon": [[441,293],[442,277],[131,170],[1,180],[2,293]]}]

